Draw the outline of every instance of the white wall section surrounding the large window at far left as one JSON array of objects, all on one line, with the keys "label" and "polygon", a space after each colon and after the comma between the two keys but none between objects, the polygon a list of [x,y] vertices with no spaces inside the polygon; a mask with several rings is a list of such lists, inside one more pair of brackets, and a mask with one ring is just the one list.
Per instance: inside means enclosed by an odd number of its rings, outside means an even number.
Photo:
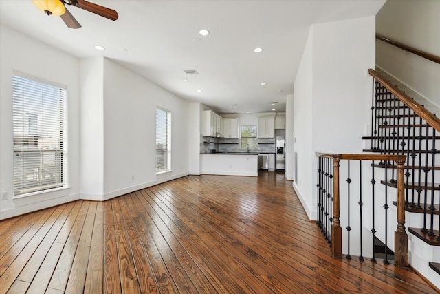
[{"label": "white wall section surrounding the large window at far left", "polygon": [[[80,101],[79,61],[28,36],[0,26],[0,218],[76,200],[80,191]],[[12,71],[19,70],[47,81],[67,85],[69,125],[69,189],[17,198],[13,195],[12,161]]]}]

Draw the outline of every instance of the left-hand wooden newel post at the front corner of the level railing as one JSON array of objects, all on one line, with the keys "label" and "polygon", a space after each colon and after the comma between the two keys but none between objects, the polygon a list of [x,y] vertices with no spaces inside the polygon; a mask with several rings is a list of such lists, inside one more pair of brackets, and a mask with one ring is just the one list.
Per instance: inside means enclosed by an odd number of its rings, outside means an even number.
[{"label": "left-hand wooden newel post at the front corner of the level railing", "polygon": [[342,228],[339,198],[339,156],[333,156],[333,222],[331,225],[331,249],[333,258],[342,258]]}]

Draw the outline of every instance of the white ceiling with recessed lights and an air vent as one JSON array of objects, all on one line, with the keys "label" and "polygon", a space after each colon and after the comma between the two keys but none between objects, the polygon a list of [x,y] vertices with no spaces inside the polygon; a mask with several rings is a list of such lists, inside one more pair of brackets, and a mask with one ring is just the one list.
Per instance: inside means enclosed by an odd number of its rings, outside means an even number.
[{"label": "white ceiling with recessed lights and an air vent", "polygon": [[[271,111],[272,101],[278,101],[277,112],[284,111],[310,25],[375,15],[384,4],[383,0],[91,2],[117,10],[119,19],[110,21],[67,6],[83,25],[74,30],[60,17],[47,17],[30,0],[0,0],[0,20],[79,58],[106,56],[223,114]],[[209,36],[199,35],[202,28],[210,31]],[[106,50],[98,51],[94,45]],[[256,47],[263,52],[254,53]],[[199,74],[188,76],[184,70],[190,69]]]}]

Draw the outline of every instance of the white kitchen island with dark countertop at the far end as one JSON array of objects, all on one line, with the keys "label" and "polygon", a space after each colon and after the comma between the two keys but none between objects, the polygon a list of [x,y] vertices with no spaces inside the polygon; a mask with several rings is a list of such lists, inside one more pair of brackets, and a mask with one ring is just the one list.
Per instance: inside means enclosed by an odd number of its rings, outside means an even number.
[{"label": "white kitchen island with dark countertop at the far end", "polygon": [[200,154],[201,174],[259,176],[258,158],[253,152]]}]

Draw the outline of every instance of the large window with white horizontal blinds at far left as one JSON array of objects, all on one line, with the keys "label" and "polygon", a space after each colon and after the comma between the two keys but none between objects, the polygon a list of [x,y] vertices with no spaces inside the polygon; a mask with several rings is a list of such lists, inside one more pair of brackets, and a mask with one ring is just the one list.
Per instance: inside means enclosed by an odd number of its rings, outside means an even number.
[{"label": "large window with white horizontal blinds at far left", "polygon": [[66,96],[65,87],[12,77],[14,196],[66,185]]}]

